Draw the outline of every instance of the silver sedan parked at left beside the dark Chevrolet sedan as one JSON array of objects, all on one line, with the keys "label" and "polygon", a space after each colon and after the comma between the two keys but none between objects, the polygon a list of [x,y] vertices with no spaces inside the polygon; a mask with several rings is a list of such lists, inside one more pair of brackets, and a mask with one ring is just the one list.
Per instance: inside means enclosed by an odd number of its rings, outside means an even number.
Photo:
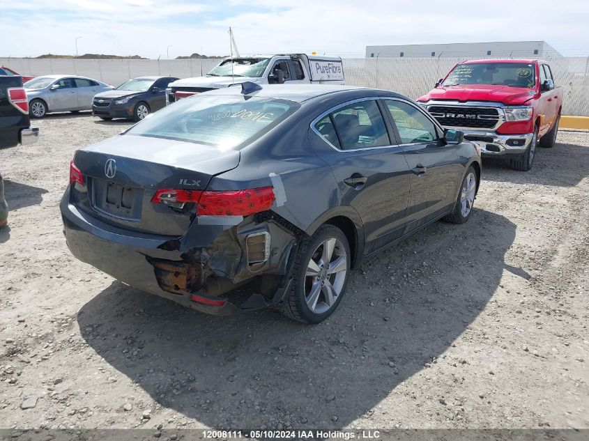
[{"label": "silver sedan parked at left beside the dark Chevrolet sedan", "polygon": [[91,110],[94,95],[110,91],[113,86],[76,75],[45,75],[24,83],[24,88],[29,98],[29,114],[32,118],[43,118],[54,111]]}]

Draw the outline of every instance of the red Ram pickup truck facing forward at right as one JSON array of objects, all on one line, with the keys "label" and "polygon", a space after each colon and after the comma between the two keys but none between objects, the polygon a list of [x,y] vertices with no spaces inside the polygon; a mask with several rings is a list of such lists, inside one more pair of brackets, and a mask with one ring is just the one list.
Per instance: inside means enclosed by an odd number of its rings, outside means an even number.
[{"label": "red Ram pickup truck facing forward at right", "polygon": [[441,125],[477,141],[484,156],[528,171],[536,145],[555,144],[563,91],[546,61],[473,60],[455,65],[418,102]]}]

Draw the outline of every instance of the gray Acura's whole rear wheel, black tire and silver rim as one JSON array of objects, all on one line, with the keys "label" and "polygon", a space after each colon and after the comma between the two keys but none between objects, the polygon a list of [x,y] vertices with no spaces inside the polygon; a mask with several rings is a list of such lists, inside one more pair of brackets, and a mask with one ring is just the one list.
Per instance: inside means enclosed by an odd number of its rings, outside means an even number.
[{"label": "gray Acura's whole rear wheel, black tire and silver rim", "polygon": [[[326,256],[331,249],[331,256]],[[331,265],[323,265],[328,260]],[[321,226],[298,249],[293,284],[282,314],[303,323],[316,324],[328,318],[342,301],[350,274],[350,245],[342,230]],[[332,271],[330,272],[330,269]]]}]

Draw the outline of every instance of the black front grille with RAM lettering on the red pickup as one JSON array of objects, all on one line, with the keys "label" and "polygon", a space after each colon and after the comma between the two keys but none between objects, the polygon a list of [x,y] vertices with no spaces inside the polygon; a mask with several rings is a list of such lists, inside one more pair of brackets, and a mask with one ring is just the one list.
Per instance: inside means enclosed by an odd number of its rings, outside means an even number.
[{"label": "black front grille with RAM lettering on the red pickup", "polygon": [[450,127],[495,129],[502,116],[496,107],[467,107],[433,105],[427,111],[438,123]]}]

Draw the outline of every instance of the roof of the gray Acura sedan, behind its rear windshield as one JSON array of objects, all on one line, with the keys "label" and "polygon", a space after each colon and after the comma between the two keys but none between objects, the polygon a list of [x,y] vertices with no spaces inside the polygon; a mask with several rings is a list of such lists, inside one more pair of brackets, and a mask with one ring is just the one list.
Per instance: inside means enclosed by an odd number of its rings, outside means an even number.
[{"label": "roof of the gray Acura sedan, behind its rear windshield", "polygon": [[[305,102],[323,95],[344,93],[351,91],[369,91],[370,95],[376,95],[376,92],[390,96],[401,96],[390,91],[379,91],[374,88],[343,86],[335,84],[257,84],[261,89],[250,93],[261,98],[275,98],[277,100],[289,100],[294,102]],[[227,88],[219,88],[213,91],[205,92],[206,95],[238,95],[241,93],[240,83]]]}]

